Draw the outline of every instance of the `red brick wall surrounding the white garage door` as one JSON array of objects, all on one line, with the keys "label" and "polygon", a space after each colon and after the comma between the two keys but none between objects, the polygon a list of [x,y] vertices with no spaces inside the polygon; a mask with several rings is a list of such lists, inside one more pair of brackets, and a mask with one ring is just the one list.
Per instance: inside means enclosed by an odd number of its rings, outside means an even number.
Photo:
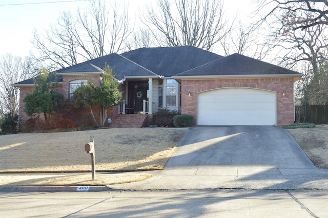
[{"label": "red brick wall surrounding the white garage door", "polygon": [[[181,113],[194,116],[197,120],[197,93],[228,87],[247,87],[275,91],[277,93],[277,125],[294,123],[294,82],[293,78],[245,78],[245,79],[212,79],[182,80]],[[189,96],[189,91],[191,96]],[[283,91],[285,96],[282,96]]]}]

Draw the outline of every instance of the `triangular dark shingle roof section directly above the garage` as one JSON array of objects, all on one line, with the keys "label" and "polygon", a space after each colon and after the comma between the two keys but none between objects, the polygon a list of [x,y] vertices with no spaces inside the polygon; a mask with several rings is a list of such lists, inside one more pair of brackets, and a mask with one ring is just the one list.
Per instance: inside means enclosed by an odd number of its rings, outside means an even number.
[{"label": "triangular dark shingle roof section directly above the garage", "polygon": [[204,64],[194,69],[182,72],[176,76],[202,75],[270,75],[270,74],[299,74],[283,67],[262,62],[241,54],[232,54],[216,61]]}]

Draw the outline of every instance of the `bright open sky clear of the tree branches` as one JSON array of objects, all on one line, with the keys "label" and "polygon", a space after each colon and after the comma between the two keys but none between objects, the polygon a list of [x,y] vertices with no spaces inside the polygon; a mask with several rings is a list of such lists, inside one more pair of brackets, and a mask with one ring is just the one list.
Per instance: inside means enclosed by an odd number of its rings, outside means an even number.
[{"label": "bright open sky clear of the tree branches", "polygon": [[[111,0],[126,1],[131,12],[154,2],[154,0]],[[251,0],[226,0],[224,9],[227,15],[247,16],[253,9]],[[56,24],[60,13],[88,7],[88,0],[0,0],[0,55],[29,55],[33,49],[32,31],[42,32],[50,24]],[[135,29],[137,30],[137,29]],[[223,53],[223,52],[222,52]]]}]

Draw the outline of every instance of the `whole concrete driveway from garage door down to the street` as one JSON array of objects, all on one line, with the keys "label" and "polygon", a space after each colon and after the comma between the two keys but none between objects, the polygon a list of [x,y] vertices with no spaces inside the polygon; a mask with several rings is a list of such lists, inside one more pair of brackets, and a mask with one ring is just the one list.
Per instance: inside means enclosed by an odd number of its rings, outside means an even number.
[{"label": "whole concrete driveway from garage door down to the street", "polygon": [[291,134],[275,126],[189,128],[165,166],[148,180],[118,189],[328,188]]}]

